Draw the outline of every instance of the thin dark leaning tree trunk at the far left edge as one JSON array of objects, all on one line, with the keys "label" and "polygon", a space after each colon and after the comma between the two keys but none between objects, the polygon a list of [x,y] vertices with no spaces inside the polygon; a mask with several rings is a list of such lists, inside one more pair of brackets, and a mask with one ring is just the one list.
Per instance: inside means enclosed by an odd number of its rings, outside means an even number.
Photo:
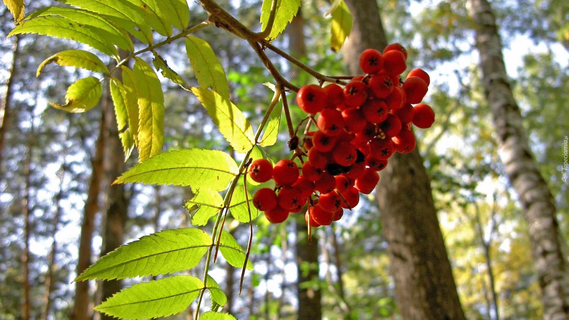
[{"label": "thin dark leaning tree trunk at the far left edge", "polygon": [[14,80],[15,75],[18,73],[17,62],[20,56],[20,36],[16,36],[14,41],[14,48],[12,50],[12,65],[10,67],[10,76],[6,84],[6,94],[0,100],[0,117],[2,117],[2,124],[0,126],[0,175],[2,174],[2,153],[4,151],[4,144],[6,142],[6,132],[10,125],[10,118],[12,117],[12,96],[14,95]]}]

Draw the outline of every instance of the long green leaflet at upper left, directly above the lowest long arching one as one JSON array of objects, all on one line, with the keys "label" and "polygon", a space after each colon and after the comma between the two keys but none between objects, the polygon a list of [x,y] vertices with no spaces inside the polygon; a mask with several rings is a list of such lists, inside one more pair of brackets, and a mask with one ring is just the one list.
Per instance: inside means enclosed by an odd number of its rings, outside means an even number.
[{"label": "long green leaflet at upper left, directly above the lowest long arching one", "polygon": [[26,19],[42,17],[46,15],[59,15],[64,18],[71,19],[80,23],[85,28],[98,33],[102,38],[109,39],[113,44],[116,44],[123,50],[134,51],[132,40],[126,31],[118,27],[116,24],[110,22],[108,19],[96,13],[68,7],[47,7],[38,10],[26,17]]}]

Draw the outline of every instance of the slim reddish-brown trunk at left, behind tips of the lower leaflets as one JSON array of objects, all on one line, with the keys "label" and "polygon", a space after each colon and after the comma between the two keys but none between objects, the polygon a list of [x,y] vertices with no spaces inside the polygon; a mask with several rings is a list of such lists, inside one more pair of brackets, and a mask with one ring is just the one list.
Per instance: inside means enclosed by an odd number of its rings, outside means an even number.
[{"label": "slim reddish-brown trunk at left, behind tips of the lower leaflets", "polygon": [[[81,236],[79,240],[79,257],[77,257],[77,275],[83,273],[91,265],[93,255],[93,231],[95,214],[99,211],[98,195],[101,188],[101,178],[103,170],[103,153],[106,144],[105,132],[107,125],[105,120],[105,110],[101,112],[101,125],[99,136],[95,142],[95,155],[91,159],[91,178],[89,189],[83,211],[83,222],[81,223]],[[90,318],[89,305],[92,299],[89,297],[89,281],[79,281],[75,284],[75,303],[69,318],[71,320],[88,320]]]}]

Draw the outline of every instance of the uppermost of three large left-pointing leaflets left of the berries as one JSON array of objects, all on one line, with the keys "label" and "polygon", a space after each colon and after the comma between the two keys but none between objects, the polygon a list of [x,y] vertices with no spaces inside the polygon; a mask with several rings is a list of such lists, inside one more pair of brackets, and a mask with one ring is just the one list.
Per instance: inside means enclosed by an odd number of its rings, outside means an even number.
[{"label": "uppermost of three large left-pointing leaflets left of the berries", "polygon": [[166,151],[138,163],[114,183],[174,184],[221,191],[239,173],[229,154],[218,150]]}]

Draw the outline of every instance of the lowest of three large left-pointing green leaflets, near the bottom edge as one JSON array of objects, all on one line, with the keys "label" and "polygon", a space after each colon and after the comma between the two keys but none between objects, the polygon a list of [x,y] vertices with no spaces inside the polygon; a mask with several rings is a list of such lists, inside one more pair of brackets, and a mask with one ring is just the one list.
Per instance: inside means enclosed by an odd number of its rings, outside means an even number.
[{"label": "lowest of three large left-pointing green leaflets, near the bottom edge", "polygon": [[94,310],[123,319],[167,317],[184,311],[202,288],[202,280],[180,274],[123,289]]}]

